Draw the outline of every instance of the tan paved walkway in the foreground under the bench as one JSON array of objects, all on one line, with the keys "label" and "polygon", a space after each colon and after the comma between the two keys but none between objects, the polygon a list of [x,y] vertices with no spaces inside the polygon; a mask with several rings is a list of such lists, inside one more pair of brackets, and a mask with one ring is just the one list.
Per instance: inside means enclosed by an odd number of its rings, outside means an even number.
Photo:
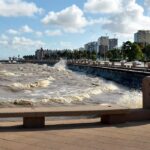
[{"label": "tan paved walkway in the foreground under the bench", "polygon": [[0,122],[0,150],[150,150],[150,121],[104,126],[98,119],[55,120],[44,129],[20,124]]}]

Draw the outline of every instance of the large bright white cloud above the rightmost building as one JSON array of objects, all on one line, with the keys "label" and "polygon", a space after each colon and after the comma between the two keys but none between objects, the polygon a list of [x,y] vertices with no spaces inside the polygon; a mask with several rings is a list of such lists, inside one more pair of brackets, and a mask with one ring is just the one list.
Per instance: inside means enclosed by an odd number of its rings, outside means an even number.
[{"label": "large bright white cloud above the rightmost building", "polygon": [[104,29],[125,34],[132,34],[139,29],[149,29],[150,17],[144,15],[142,6],[135,0],[122,1],[122,5],[124,5],[123,10],[111,15],[110,22],[103,25]]}]

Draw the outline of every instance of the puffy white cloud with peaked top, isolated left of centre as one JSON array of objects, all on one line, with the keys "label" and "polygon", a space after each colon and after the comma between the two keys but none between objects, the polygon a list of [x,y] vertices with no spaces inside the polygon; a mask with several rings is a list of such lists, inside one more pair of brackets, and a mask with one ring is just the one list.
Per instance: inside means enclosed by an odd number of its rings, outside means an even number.
[{"label": "puffy white cloud with peaked top, isolated left of centre", "polygon": [[60,12],[51,11],[42,19],[42,22],[59,26],[66,32],[78,32],[87,25],[82,10],[76,5],[67,7]]}]

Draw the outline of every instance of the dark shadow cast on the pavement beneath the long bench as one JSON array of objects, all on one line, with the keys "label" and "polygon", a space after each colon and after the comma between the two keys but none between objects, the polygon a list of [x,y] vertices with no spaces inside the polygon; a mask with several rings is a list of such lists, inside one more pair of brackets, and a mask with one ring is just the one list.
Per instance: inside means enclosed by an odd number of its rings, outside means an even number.
[{"label": "dark shadow cast on the pavement beneath the long bench", "polygon": [[22,125],[10,125],[10,126],[0,126],[0,132],[26,132],[26,131],[47,131],[47,130],[71,130],[71,129],[88,129],[88,128],[104,128],[104,127],[116,127],[116,128],[129,128],[134,126],[142,126],[150,124],[150,121],[144,122],[127,122],[123,124],[116,125],[105,125],[101,124],[99,121],[90,123],[60,123],[60,124],[48,124],[44,128],[24,128]]}]

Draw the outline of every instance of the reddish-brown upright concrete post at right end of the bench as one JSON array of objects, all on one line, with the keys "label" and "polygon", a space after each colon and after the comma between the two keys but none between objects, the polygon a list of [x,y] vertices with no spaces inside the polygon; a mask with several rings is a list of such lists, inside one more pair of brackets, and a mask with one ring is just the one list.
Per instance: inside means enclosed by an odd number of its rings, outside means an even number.
[{"label": "reddish-brown upright concrete post at right end of the bench", "polygon": [[143,108],[150,109],[150,76],[147,76],[143,79],[142,92],[143,92]]}]

